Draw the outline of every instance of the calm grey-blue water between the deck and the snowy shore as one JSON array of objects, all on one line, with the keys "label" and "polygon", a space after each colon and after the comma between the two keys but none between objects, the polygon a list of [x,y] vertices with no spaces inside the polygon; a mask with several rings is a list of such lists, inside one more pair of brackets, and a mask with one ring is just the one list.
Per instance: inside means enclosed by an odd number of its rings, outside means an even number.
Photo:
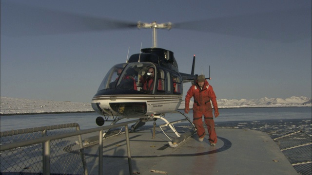
[{"label": "calm grey-blue water between the deck and the snowy shore", "polygon": [[[184,110],[179,110],[184,113]],[[284,119],[308,119],[311,120],[312,107],[263,107],[263,108],[220,108],[219,117],[215,118],[218,122],[237,122],[237,121],[261,121],[261,120],[284,120]],[[185,114],[190,120],[193,120],[193,110]],[[66,123],[78,123],[80,129],[89,129],[98,127],[96,118],[99,115],[91,113],[62,113],[62,114],[32,114],[32,115],[1,115],[0,131],[15,129],[25,129],[40,126],[50,126]],[[176,121],[183,119],[179,113],[166,113],[165,119]],[[111,118],[109,118],[111,119]],[[120,122],[126,122],[135,119],[123,119]],[[105,122],[108,125],[111,122]],[[163,124],[157,120],[156,124]],[[153,125],[149,122],[146,125]]]}]

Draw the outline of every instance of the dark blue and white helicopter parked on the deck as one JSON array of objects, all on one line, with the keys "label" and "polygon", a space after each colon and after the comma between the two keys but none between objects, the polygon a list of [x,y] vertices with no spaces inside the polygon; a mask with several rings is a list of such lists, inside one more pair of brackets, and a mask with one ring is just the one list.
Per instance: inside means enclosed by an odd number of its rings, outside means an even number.
[{"label": "dark blue and white helicopter parked on the deck", "polygon": [[[180,137],[173,123],[160,115],[177,111],[182,102],[183,83],[197,77],[195,55],[191,73],[179,72],[174,53],[156,47],[156,29],[171,29],[171,23],[139,21],[137,28],[153,29],[154,46],[141,49],[141,53],[131,55],[126,63],[117,64],[107,72],[92,99],[93,109],[104,117],[98,117],[96,123],[101,126],[106,121],[115,124],[122,118],[139,118],[140,121],[131,126],[135,131],[147,121],[160,119]],[[185,118],[192,123],[187,116]]]}]

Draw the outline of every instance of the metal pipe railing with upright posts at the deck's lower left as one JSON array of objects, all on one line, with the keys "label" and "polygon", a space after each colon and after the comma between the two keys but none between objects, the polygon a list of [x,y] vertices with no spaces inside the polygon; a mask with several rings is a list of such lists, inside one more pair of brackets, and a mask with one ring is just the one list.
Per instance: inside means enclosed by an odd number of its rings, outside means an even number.
[{"label": "metal pipe railing with upright posts at the deck's lower left", "polygon": [[[74,141],[75,144],[79,146],[80,151],[80,161],[83,165],[83,174],[88,175],[88,170],[86,166],[86,160],[84,157],[84,148],[83,143],[81,139],[81,135],[84,134],[90,134],[94,132],[98,132],[98,175],[102,175],[103,171],[103,130],[108,130],[112,128],[117,127],[125,127],[125,135],[126,135],[126,143],[127,143],[127,153],[128,153],[128,165],[129,165],[129,174],[132,174],[132,163],[131,163],[131,153],[130,153],[130,140],[129,140],[129,130],[128,130],[128,124],[129,123],[135,123],[139,120],[124,122],[124,123],[118,123],[108,126],[101,126],[97,128],[91,128],[91,129],[85,129],[80,130],[78,123],[69,123],[69,124],[61,124],[61,125],[53,125],[53,126],[42,126],[37,128],[29,128],[29,129],[20,129],[20,130],[11,130],[11,131],[4,131],[0,132],[0,138],[1,138],[1,146],[0,146],[0,152],[1,152],[1,173],[7,172],[7,171],[14,171],[14,172],[27,172],[25,170],[31,169],[34,171],[34,169],[39,169],[42,167],[42,174],[43,175],[50,175],[51,170],[51,153],[53,154],[59,154],[58,151],[53,150],[56,149],[59,146],[66,146],[64,144],[68,144],[66,142],[65,138],[73,138],[78,137],[78,141]],[[67,133],[61,133],[56,132],[54,135],[48,135],[47,131],[55,130],[58,131],[59,129],[64,129],[68,127],[76,127],[76,131],[74,132],[67,132]],[[29,133],[37,133],[37,135],[41,135],[42,137],[34,136],[32,134],[31,136],[23,137],[21,138],[10,138],[9,140],[4,140],[3,138],[9,137],[9,136],[16,136],[16,135],[24,135]],[[39,133],[39,134],[38,134]],[[58,140],[61,140],[58,142]],[[74,139],[76,140],[76,139]],[[64,143],[65,142],[65,143]],[[73,142],[73,141],[72,141]],[[51,147],[52,145],[52,147]],[[57,145],[57,146],[55,146]],[[71,148],[72,149],[72,148]],[[37,150],[37,154],[41,153],[41,156],[34,155],[34,150]],[[41,151],[38,151],[41,150]],[[51,152],[52,151],[52,152]],[[67,151],[66,147],[63,149],[63,151]],[[70,152],[70,151],[69,151]],[[20,157],[25,157],[25,154],[30,154],[31,157],[42,157],[42,166],[40,167],[28,167],[27,163],[21,162]],[[64,159],[66,156],[61,156],[59,159]],[[56,159],[54,161],[58,161],[59,159]],[[69,157],[68,159],[73,159],[73,157]],[[77,159],[77,158],[76,158]],[[35,164],[34,162],[37,162],[38,160],[28,157],[27,161],[33,161],[32,164]],[[41,160],[40,160],[41,161]],[[18,163],[20,162],[20,163]],[[12,167],[12,164],[15,164],[15,167]],[[38,164],[38,163],[37,163]],[[6,167],[9,167],[10,169],[6,169]],[[58,169],[58,168],[57,168]],[[61,169],[61,168],[59,168]],[[40,171],[40,170],[38,170]],[[69,170],[70,171],[70,170]],[[40,172],[33,172],[33,173],[40,173]],[[58,172],[62,174],[68,174],[66,172]],[[72,173],[71,173],[72,174]]]}]

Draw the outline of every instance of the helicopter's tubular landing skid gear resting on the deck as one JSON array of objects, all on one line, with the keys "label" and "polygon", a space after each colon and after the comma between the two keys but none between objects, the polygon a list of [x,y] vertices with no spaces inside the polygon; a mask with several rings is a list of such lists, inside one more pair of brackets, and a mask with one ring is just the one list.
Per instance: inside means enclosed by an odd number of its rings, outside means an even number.
[{"label": "helicopter's tubular landing skid gear resting on the deck", "polygon": [[[133,124],[131,126],[131,129],[130,132],[134,132],[136,131],[139,127],[142,127],[146,122],[148,121],[154,121],[154,129],[153,129],[153,138],[155,138],[155,129],[156,129],[156,120],[157,119],[160,119],[162,121],[165,122],[165,124],[162,124],[162,125],[159,125],[159,128],[161,129],[161,131],[165,134],[165,136],[170,140],[168,141],[170,147],[172,148],[175,148],[177,147],[180,143],[184,142],[186,139],[188,139],[189,137],[193,136],[195,134],[195,126],[194,124],[191,122],[190,118],[186,115],[184,115],[183,113],[181,113],[180,111],[176,111],[178,113],[180,113],[181,115],[183,115],[185,118],[184,119],[181,119],[181,120],[177,120],[177,121],[174,121],[174,122],[169,122],[167,119],[164,118],[164,114],[162,114],[162,116],[160,115],[154,115],[154,116],[151,116],[150,118],[146,118],[146,119],[141,119],[140,121],[138,121],[137,123]],[[105,121],[109,121],[109,122],[112,122],[111,124],[116,124],[119,120],[121,119],[124,119],[124,117],[114,117],[114,119],[112,121],[110,120],[107,120],[107,118],[105,117],[105,119],[101,118],[101,117],[98,117],[97,118],[97,124],[104,124]],[[182,123],[182,122],[185,122],[185,121],[189,121],[191,124],[192,124],[192,128],[183,133],[183,134],[180,134],[176,131],[176,128],[174,126],[174,124],[176,123]],[[176,138],[173,138],[171,139],[167,134],[166,132],[163,130],[163,127],[166,127],[166,126],[169,126],[170,129],[174,132],[174,134],[176,135]],[[108,137],[112,137],[112,136],[116,136],[116,135],[119,135],[119,134],[122,134],[122,129],[121,128],[120,130],[106,130],[103,132],[103,138],[108,138]]]}]

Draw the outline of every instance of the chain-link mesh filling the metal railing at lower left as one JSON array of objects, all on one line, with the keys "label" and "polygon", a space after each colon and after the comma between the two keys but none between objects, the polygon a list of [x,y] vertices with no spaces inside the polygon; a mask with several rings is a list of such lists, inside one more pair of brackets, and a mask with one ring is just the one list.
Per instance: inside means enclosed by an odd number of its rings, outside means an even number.
[{"label": "chain-link mesh filling the metal railing at lower left", "polygon": [[[78,123],[42,126],[36,128],[4,131],[0,133],[0,144],[32,140],[39,137],[70,133],[80,130]],[[78,136],[79,137],[79,136]],[[50,141],[51,174],[85,174],[83,156],[78,145],[78,137]],[[81,138],[81,136],[80,136]],[[75,152],[75,154],[71,154]],[[42,174],[44,155],[43,143],[17,147],[0,152],[1,175]],[[70,166],[75,165],[75,166]]]}]

